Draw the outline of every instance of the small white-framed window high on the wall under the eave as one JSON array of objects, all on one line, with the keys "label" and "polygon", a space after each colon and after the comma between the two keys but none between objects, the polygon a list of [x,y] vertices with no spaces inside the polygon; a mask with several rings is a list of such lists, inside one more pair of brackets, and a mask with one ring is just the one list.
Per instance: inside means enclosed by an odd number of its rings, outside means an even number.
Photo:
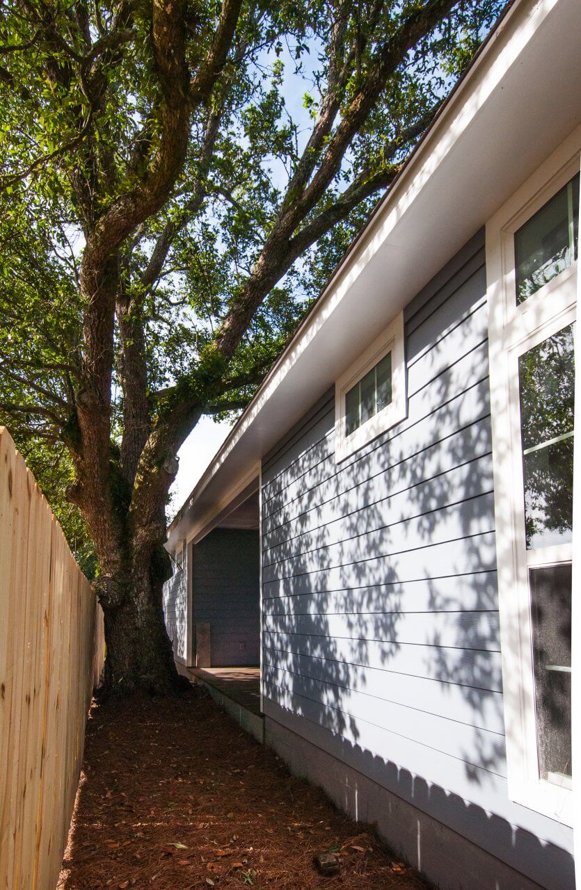
[{"label": "small white-framed window high on the wall under the eave", "polygon": [[335,396],[337,461],[404,419],[403,313],[340,377]]}]

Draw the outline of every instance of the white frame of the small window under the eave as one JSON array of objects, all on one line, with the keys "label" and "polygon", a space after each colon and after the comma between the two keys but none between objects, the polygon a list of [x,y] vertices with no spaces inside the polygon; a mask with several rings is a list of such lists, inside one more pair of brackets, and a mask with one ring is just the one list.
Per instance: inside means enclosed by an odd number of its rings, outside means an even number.
[{"label": "white frame of the small window under the eave", "polygon": [[[391,352],[391,401],[389,405],[346,434],[345,397],[367,371]],[[407,412],[404,349],[404,313],[400,312],[380,336],[349,366],[335,383],[335,461],[340,463],[368,442],[405,418]]]}]

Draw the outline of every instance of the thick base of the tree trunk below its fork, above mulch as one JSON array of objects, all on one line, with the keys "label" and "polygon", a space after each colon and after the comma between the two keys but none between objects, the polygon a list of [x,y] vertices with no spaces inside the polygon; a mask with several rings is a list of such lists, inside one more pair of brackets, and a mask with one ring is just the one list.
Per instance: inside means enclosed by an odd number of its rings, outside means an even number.
[{"label": "thick base of the tree trunk below its fork, above mulch", "polygon": [[[162,611],[163,578],[160,551],[151,564],[132,572],[120,586],[121,603],[104,603],[105,676],[102,693],[124,695],[136,690],[166,695],[184,689]],[[165,560],[164,560],[165,562]]]}]

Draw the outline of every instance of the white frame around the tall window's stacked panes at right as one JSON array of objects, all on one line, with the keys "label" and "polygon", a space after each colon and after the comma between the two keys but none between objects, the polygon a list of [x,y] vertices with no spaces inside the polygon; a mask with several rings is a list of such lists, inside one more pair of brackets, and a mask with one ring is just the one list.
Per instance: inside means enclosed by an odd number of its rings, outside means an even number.
[{"label": "white frame around the tall window's stacked panes at right", "polygon": [[[518,305],[514,233],[577,174],[580,151],[578,127],[487,223],[496,557],[508,788],[515,802],[566,825],[573,822],[572,790],[544,781],[538,774],[528,567],[534,562],[569,562],[572,546],[526,549],[518,361],[524,352],[575,321],[577,263]],[[577,356],[577,367],[578,362]],[[575,649],[575,633],[573,636]],[[572,705],[575,708],[574,702]]]}]

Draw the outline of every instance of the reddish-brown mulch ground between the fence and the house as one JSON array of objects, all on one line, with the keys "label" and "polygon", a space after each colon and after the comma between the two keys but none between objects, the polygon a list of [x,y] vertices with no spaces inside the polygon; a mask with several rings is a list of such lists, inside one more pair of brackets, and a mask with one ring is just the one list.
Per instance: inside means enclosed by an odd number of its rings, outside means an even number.
[{"label": "reddish-brown mulch ground between the fence and the house", "polygon": [[95,705],[58,890],[209,886],[428,890],[200,689]]}]

